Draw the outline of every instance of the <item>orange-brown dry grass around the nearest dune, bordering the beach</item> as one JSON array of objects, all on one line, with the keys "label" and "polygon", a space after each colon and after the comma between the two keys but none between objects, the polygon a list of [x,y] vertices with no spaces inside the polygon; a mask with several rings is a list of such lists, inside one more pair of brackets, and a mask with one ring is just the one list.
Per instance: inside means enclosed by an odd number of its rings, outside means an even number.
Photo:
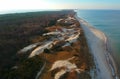
[{"label": "orange-brown dry grass around the nearest dune, bordering the beach", "polygon": [[[66,60],[68,58],[75,57],[74,59],[70,60],[71,63],[75,63],[78,68],[82,69],[83,72],[78,76],[76,71],[72,71],[70,73],[66,73],[60,79],[91,79],[90,74],[87,72],[94,66],[92,55],[89,52],[89,48],[87,46],[87,42],[85,39],[85,35],[83,30],[78,27],[79,24],[76,21],[77,27],[75,29],[80,29],[81,34],[78,40],[71,44],[71,46],[66,46],[62,48],[62,51],[59,50],[52,50],[51,53],[42,53],[39,56],[44,58],[47,62],[47,65],[41,75],[41,79],[54,79],[56,72],[60,69],[56,69],[55,71],[49,71],[52,67],[53,63],[57,60]],[[63,26],[64,28],[70,28]],[[56,29],[61,29],[61,26],[52,26],[46,28],[49,31],[55,31]]]}]

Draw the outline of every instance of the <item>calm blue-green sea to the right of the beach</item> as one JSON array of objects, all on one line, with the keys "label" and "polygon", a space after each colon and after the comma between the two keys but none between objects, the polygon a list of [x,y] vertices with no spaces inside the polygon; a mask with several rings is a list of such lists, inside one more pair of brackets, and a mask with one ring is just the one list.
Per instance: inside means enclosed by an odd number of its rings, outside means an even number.
[{"label": "calm blue-green sea to the right of the beach", "polygon": [[120,10],[77,10],[77,16],[107,35],[120,73]]}]

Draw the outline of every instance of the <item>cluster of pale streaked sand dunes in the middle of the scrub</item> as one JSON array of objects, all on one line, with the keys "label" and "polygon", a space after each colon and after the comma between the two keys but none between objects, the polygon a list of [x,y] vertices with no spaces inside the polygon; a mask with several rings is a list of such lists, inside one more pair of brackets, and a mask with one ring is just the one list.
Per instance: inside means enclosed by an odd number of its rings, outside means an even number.
[{"label": "cluster of pale streaked sand dunes in the middle of the scrub", "polygon": [[[72,29],[62,28],[62,30],[63,30],[63,32],[55,31],[55,32],[49,32],[49,33],[43,34],[43,36],[45,36],[45,35],[58,35],[58,36],[51,38],[51,40],[48,40],[47,42],[43,42],[43,45],[38,46],[36,49],[34,49],[32,51],[32,53],[29,55],[29,58],[33,57],[35,55],[41,54],[44,51],[44,49],[46,49],[46,48],[51,49],[52,46],[56,44],[56,42],[54,41],[56,38],[57,38],[57,40],[62,41],[67,36],[68,39],[66,39],[65,41],[69,41],[70,43],[72,43],[72,42],[75,42],[80,35],[80,30],[76,31],[73,28]],[[74,34],[76,32],[77,32],[77,34]],[[70,44],[65,44],[65,45],[70,45]],[[37,45],[34,45],[34,44],[30,45],[28,47],[25,47],[22,51],[28,51],[28,50],[32,49],[33,47],[36,47],[36,46]]]}]

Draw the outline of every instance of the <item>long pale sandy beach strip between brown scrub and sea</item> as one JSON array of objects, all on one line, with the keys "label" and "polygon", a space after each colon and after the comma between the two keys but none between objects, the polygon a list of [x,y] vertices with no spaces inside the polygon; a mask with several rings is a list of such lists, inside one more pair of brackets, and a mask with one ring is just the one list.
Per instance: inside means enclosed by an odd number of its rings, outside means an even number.
[{"label": "long pale sandy beach strip between brown scrub and sea", "polygon": [[88,45],[94,56],[97,79],[119,79],[117,68],[112,55],[108,51],[107,37],[101,31],[93,28],[89,23],[75,16],[80,22]]}]

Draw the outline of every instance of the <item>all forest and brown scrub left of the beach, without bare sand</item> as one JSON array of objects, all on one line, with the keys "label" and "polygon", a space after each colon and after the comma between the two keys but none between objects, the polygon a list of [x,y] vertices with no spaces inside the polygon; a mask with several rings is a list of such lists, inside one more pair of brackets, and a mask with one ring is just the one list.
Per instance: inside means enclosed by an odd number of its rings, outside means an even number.
[{"label": "all forest and brown scrub left of the beach, without bare sand", "polygon": [[[67,72],[60,79],[91,79],[89,72],[94,67],[94,61],[84,32],[77,20],[65,20],[68,16],[74,17],[74,15],[75,12],[72,10],[0,15],[0,79],[35,79],[45,63],[39,78],[54,79],[55,74],[62,68],[50,71],[52,65],[58,60],[67,60],[72,57],[74,59],[69,62],[74,63],[82,71],[79,76],[76,76],[75,71]],[[58,22],[59,19],[63,21]],[[67,32],[63,33],[64,29],[68,29]],[[73,32],[71,34],[74,37],[78,35],[74,42],[69,41],[70,39],[65,41],[72,37],[68,34],[69,30],[73,30],[70,32]],[[57,31],[61,34],[43,35]],[[59,40],[62,33],[64,39]],[[40,42],[45,45],[49,41],[53,42],[52,47],[45,48],[39,55],[29,58],[30,53],[40,45],[23,54],[18,54],[20,49],[30,44]]]}]

